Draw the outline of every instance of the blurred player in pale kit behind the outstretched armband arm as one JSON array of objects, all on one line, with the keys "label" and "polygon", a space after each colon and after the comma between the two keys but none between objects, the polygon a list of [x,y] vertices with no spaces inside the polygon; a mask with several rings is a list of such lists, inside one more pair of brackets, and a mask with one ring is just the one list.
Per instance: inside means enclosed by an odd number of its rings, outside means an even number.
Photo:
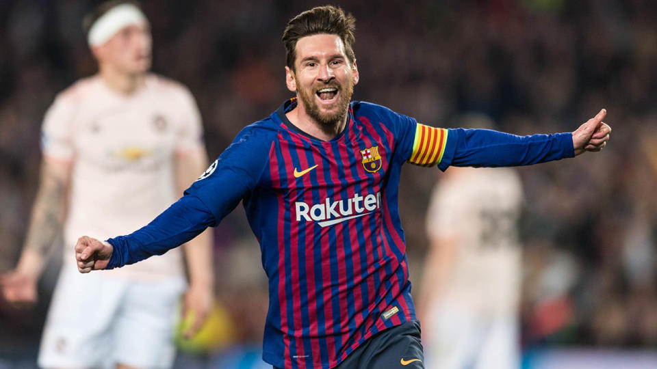
[{"label": "blurred player in pale kit behind the outstretched armband arm", "polygon": [[[478,114],[459,126],[494,128]],[[441,176],[426,218],[426,368],[519,368],[522,200],[515,169],[452,167]]]}]

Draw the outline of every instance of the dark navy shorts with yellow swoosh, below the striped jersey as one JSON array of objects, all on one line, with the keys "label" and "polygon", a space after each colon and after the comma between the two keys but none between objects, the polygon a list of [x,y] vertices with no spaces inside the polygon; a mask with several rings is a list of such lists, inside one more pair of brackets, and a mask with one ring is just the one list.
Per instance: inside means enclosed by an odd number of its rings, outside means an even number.
[{"label": "dark navy shorts with yellow swoosh, below the striped jersey", "polygon": [[376,333],[335,369],[424,369],[423,361],[420,321],[411,320]]}]

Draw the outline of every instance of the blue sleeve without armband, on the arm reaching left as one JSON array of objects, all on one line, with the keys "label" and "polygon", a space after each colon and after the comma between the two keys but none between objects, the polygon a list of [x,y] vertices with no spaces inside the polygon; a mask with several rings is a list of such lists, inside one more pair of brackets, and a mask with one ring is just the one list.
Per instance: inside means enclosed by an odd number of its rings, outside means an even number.
[{"label": "blue sleeve without armband, on the arm reaching left", "polygon": [[180,200],[148,226],[107,240],[114,251],[106,269],[162,255],[216,226],[257,186],[275,134],[253,125],[244,128]]}]

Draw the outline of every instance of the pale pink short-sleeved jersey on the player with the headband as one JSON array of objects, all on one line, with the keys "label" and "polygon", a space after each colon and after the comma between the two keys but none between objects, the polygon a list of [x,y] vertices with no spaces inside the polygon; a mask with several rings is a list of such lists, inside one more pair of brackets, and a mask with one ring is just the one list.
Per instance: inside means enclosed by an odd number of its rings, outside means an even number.
[{"label": "pale pink short-sleeved jersey on the player with the headband", "polygon": [[[73,165],[64,225],[64,260],[75,263],[80,236],[101,240],[145,226],[175,202],[175,155],[202,143],[201,115],[192,94],[148,74],[143,87],[124,96],[98,75],[60,93],[47,111],[42,151],[49,161]],[[122,277],[182,274],[173,249],[123,269]]]}]

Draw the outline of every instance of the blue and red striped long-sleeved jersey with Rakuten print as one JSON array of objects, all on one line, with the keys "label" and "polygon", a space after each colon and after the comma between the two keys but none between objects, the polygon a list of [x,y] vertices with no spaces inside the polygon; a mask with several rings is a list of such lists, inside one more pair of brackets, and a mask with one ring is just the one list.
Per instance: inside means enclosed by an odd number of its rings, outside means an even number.
[{"label": "blue and red striped long-sleeved jersey with Rakuten print", "polygon": [[269,278],[263,359],[333,368],[378,331],[415,319],[398,212],[402,164],[528,165],[574,156],[571,133],[519,137],[442,129],[351,102],[330,141],[296,128],[288,100],[246,126],[149,225],[110,238],[107,269],[138,262],[218,224],[243,202]]}]

